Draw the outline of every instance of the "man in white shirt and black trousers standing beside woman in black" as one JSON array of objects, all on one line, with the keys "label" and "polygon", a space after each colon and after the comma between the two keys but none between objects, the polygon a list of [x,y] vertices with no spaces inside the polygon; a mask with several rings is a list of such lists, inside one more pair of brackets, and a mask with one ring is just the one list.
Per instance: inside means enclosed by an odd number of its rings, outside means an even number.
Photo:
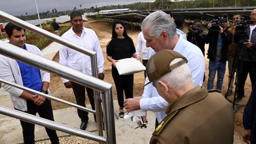
[{"label": "man in white shirt and black trousers standing beside woman in black", "polygon": [[[83,27],[83,18],[80,12],[73,11],[70,14],[70,28],[61,37],[68,39],[76,44],[79,44],[89,50],[96,52],[97,55],[97,67],[98,67],[98,78],[104,79],[104,57],[100,47],[100,42],[96,33],[89,29]],[[65,66],[69,66],[75,70],[83,72],[88,75],[92,75],[91,72],[91,57],[82,54],[76,50],[72,50],[67,46],[59,46],[59,63]],[[94,94],[93,89],[89,87],[84,87],[78,83],[69,81],[68,79],[61,78],[65,87],[73,89],[74,95],[76,97],[76,103],[83,107],[85,106],[85,89],[87,91],[91,107],[95,110]],[[81,119],[80,129],[85,130],[89,120],[88,112],[77,109],[78,116]],[[94,120],[96,122],[96,115],[94,114]]]}]

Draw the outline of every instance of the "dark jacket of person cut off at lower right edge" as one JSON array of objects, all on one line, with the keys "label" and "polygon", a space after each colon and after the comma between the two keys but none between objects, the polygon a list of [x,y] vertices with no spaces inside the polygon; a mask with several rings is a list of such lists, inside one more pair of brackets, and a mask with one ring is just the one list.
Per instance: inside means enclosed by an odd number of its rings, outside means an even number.
[{"label": "dark jacket of person cut off at lower right edge", "polygon": [[252,89],[250,98],[243,111],[243,127],[251,130],[250,142],[256,144],[256,85]]}]

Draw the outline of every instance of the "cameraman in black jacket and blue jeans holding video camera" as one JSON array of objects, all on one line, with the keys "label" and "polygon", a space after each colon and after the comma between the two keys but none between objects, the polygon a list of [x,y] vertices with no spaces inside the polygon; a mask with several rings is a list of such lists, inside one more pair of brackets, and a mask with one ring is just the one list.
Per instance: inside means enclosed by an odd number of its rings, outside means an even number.
[{"label": "cameraman in black jacket and blue jeans holding video camera", "polygon": [[208,56],[209,61],[209,78],[207,89],[213,89],[213,81],[216,71],[217,89],[222,89],[223,78],[226,70],[227,48],[232,42],[233,34],[226,29],[228,26],[228,15],[223,15],[218,24],[208,24],[209,32],[206,35],[205,43],[209,44]]}]

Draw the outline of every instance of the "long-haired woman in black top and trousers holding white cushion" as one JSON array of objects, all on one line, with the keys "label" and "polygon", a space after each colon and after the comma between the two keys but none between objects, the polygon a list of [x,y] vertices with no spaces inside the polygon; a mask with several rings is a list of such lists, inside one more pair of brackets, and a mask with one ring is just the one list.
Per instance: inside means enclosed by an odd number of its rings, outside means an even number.
[{"label": "long-haired woman in black top and trousers holding white cushion", "polygon": [[136,54],[134,42],[127,35],[124,22],[115,20],[112,28],[112,37],[107,44],[107,59],[112,63],[112,77],[117,89],[117,100],[119,104],[119,116],[124,117],[124,95],[125,98],[133,98],[134,75],[119,75],[115,63],[119,59],[131,58],[140,59]]}]

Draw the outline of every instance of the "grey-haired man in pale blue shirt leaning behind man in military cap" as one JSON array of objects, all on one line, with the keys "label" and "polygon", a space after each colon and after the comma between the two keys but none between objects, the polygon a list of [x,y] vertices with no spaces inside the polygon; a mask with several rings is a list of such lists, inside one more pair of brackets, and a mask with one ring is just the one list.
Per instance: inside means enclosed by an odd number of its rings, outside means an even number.
[{"label": "grey-haired man in pale blue shirt leaning behind man in military cap", "polygon": [[[177,35],[176,24],[168,14],[163,11],[151,13],[143,20],[141,30],[147,41],[146,46],[151,47],[151,51],[174,50],[184,55],[188,60],[188,66],[192,72],[193,84],[195,86],[202,86],[205,70],[204,56],[196,45],[191,44],[180,35]],[[145,83],[148,81],[148,78],[146,78]],[[165,118],[164,109],[167,106],[168,102],[160,97],[152,84],[145,86],[142,99],[133,98],[124,101],[124,107],[128,112],[139,109],[154,111],[157,118],[156,126],[158,122],[161,122]],[[143,120],[147,121],[145,117]]]}]

